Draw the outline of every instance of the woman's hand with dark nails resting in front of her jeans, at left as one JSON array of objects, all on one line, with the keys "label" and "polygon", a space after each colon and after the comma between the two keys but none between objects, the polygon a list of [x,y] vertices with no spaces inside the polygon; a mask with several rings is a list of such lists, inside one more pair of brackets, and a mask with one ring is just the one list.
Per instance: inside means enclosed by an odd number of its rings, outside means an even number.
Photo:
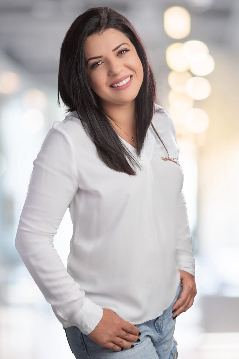
[{"label": "woman's hand with dark nails resting in front of her jeans, at left", "polygon": [[103,308],[103,316],[89,338],[96,344],[115,351],[130,349],[132,343],[139,339],[139,328],[123,320],[111,309]]}]

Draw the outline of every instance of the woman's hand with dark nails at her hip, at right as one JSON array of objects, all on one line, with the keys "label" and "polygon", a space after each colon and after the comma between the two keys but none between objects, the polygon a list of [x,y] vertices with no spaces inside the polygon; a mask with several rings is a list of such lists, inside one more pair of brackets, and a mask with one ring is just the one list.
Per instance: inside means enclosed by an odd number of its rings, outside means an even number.
[{"label": "woman's hand with dark nails at her hip, at right", "polygon": [[176,309],[172,314],[173,319],[182,312],[186,312],[187,309],[192,306],[194,297],[197,294],[194,276],[185,270],[179,269],[179,272],[182,292],[178,300],[176,300],[176,302],[173,304],[172,310]]}]

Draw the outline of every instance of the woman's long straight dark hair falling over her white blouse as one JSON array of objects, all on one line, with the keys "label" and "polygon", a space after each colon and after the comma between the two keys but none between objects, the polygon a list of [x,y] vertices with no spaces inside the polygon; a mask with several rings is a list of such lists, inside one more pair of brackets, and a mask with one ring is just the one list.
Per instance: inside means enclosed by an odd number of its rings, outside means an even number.
[{"label": "woman's long straight dark hair falling over her white blouse", "polygon": [[[137,154],[140,156],[154,112],[165,112],[156,107],[156,81],[149,64],[147,51],[133,25],[117,11],[100,6],[91,8],[79,15],[68,29],[61,45],[58,71],[59,97],[68,108],[66,112],[76,111],[84,130],[94,142],[99,158],[108,167],[130,175],[137,173],[130,163],[141,167],[128,148],[121,142],[113,126],[106,117],[98,95],[91,89],[85,69],[84,42],[92,34],[99,34],[106,29],[118,29],[133,43],[143,66],[143,83],[135,98],[135,126],[137,138]],[[110,117],[110,116],[109,116]],[[86,126],[85,126],[86,125]],[[168,150],[161,140],[167,153]]]}]

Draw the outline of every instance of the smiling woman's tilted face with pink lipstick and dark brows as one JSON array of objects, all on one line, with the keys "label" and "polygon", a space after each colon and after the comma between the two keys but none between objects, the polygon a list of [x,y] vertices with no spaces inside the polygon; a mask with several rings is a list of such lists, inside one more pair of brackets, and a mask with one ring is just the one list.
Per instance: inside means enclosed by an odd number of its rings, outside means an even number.
[{"label": "smiling woman's tilted face with pink lipstick and dark brows", "polygon": [[[88,36],[84,50],[87,81],[102,102],[132,102],[138,95],[144,73],[137,51],[128,37],[121,31],[110,28],[102,34]],[[97,59],[89,60],[91,57]],[[116,90],[110,87],[111,83],[122,82],[121,78],[128,76],[132,78],[126,86],[118,86]]]}]

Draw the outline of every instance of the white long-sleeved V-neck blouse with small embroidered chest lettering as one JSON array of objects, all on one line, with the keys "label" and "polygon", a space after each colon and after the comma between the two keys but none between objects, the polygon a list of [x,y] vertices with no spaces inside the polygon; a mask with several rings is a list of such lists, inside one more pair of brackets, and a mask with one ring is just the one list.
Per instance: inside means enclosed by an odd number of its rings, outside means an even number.
[{"label": "white long-sleeved V-neck blouse with small embroidered chest lettering", "polygon": [[[153,125],[169,159],[152,126],[140,158],[119,136],[142,165],[137,176],[100,160],[76,111],[53,123],[33,161],[15,246],[64,327],[90,334],[102,308],[132,324],[151,320],[175,297],[178,269],[195,276],[175,127],[166,111]],[[66,269],[53,238],[68,207]]]}]

